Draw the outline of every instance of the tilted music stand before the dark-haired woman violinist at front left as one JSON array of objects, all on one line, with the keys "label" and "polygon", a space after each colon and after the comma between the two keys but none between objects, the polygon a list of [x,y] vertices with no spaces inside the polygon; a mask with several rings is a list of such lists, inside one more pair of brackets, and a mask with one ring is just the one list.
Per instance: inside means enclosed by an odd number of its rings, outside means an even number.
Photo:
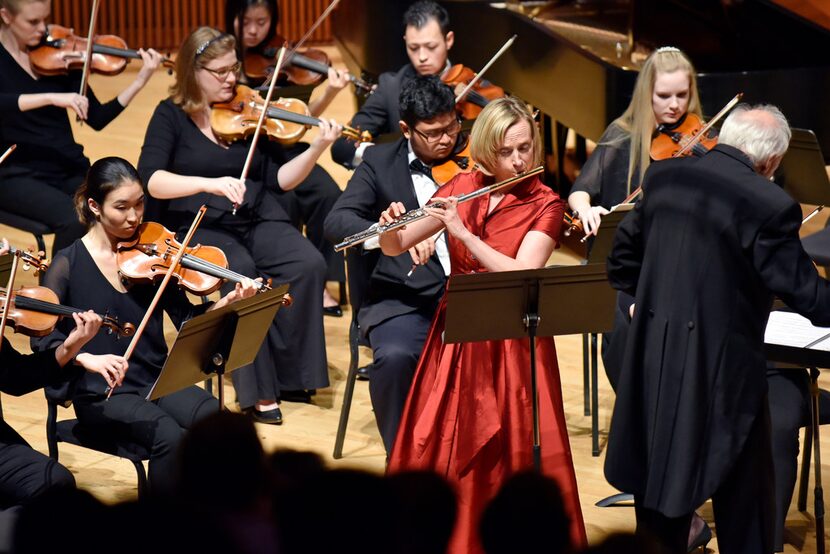
[{"label": "tilted music stand before the dark-haired woman violinist at front left", "polygon": [[224,375],[254,361],[286,292],[288,285],[279,285],[186,321],[147,400],[180,391],[216,374],[219,409],[224,409]]}]

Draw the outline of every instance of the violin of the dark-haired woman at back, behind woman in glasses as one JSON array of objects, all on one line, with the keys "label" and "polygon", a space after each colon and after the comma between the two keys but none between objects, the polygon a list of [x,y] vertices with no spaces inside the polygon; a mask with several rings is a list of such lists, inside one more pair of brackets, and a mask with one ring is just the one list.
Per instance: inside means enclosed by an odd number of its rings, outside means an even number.
[{"label": "violin of the dark-haired woman at back, behind woman in glasses", "polygon": [[[268,77],[274,71],[277,54],[285,42],[283,37],[276,35],[265,46],[246,50],[243,61],[245,75],[256,80]],[[306,48],[302,53],[294,52],[286,58],[278,78],[292,85],[317,86],[328,77],[330,67],[331,61],[325,52]],[[372,93],[372,85],[354,75],[349,75],[349,82],[358,94]]]}]

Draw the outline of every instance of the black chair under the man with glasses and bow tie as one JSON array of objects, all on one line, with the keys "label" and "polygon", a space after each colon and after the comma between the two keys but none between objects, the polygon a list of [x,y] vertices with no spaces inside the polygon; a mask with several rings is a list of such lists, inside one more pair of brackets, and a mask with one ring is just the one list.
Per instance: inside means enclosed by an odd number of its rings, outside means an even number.
[{"label": "black chair under the man with glasses and bow tie", "polygon": [[361,341],[360,327],[357,324],[357,312],[366,296],[372,271],[375,269],[380,250],[364,252],[359,248],[352,248],[346,252],[346,278],[349,283],[349,304],[352,309],[352,320],[349,324],[349,372],[346,375],[346,389],[343,392],[343,406],[340,408],[340,423],[337,425],[337,435],[334,439],[335,460],[343,457],[343,442],[346,439],[346,427],[349,425],[349,413],[352,409],[354,384],[357,381],[357,368],[360,362],[360,345],[368,346]]}]

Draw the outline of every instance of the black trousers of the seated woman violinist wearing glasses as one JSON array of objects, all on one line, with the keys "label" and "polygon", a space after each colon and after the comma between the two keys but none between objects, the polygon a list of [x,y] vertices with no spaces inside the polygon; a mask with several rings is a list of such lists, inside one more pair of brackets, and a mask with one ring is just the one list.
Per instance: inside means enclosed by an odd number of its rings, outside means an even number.
[{"label": "black trousers of the seated woman violinist wearing glasses", "polygon": [[[240,407],[279,398],[280,390],[329,386],[322,302],[326,267],[311,243],[280,221],[240,229],[202,226],[193,242],[221,248],[237,273],[290,284],[294,303],[277,312],[254,363],[231,374]],[[226,283],[223,294],[233,287]]]}]

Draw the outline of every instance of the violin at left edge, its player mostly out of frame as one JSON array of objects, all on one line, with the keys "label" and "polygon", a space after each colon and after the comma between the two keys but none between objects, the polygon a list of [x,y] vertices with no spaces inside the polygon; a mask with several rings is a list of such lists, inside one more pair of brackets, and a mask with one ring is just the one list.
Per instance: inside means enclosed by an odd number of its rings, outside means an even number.
[{"label": "violin at left edge, its player mostly out of frame", "polygon": [[[0,306],[5,305],[6,297],[6,290],[0,289]],[[0,310],[2,309],[0,307]],[[5,316],[16,333],[29,337],[43,337],[55,329],[58,319],[72,317],[72,314],[84,311],[60,304],[58,295],[52,289],[35,286],[23,287],[12,292],[9,312]],[[132,323],[121,324],[118,318],[106,314],[98,314],[98,317],[103,321],[104,328],[119,337],[129,337],[135,333],[135,325]]]}]

